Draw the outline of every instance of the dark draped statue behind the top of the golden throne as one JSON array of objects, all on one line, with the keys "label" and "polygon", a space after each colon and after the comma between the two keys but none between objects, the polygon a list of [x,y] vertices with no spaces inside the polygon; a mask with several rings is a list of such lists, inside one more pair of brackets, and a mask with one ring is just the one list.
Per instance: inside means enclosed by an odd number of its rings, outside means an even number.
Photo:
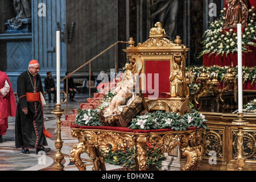
[{"label": "dark draped statue behind the top of the golden throne", "polygon": [[178,0],[153,0],[150,6],[152,12],[150,21],[161,22],[166,28],[168,38],[172,38],[172,34],[174,34],[178,8]]}]

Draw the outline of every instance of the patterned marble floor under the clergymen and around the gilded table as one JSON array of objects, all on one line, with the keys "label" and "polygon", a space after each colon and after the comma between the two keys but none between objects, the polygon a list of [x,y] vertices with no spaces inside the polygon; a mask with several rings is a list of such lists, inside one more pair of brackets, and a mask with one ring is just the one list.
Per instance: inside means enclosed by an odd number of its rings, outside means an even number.
[{"label": "patterned marble floor under the clergymen and around the gilded table", "polygon": [[[75,100],[77,102],[71,102],[63,105],[63,109],[67,110],[69,114],[72,113],[72,109],[78,109],[80,103],[86,101],[86,95],[77,95]],[[52,166],[55,164],[53,156],[56,153],[55,140],[56,140],[56,117],[51,114],[55,109],[55,104],[47,104],[44,109],[45,122],[44,125],[52,138],[47,138],[47,143],[51,151],[47,155],[36,155],[35,150],[30,150],[31,154],[22,154],[21,149],[15,148],[15,118],[9,118],[9,129],[5,136],[3,136],[3,143],[0,143],[0,171],[52,171]],[[65,115],[61,118],[65,119]],[[65,171],[78,171],[76,166],[69,161],[69,151],[72,146],[77,144],[77,139],[71,137],[71,129],[69,127],[61,127],[61,138],[63,140],[63,148],[61,152],[64,155],[62,161]],[[93,164],[87,154],[81,155],[82,161],[86,164],[86,170],[91,171]],[[121,166],[114,166],[112,164],[106,164],[107,170],[122,170]]]}]

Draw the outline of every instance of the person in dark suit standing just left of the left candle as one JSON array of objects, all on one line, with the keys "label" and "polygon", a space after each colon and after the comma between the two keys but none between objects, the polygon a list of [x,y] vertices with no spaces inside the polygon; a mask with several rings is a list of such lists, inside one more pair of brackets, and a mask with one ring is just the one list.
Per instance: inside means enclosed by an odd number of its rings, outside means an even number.
[{"label": "person in dark suit standing just left of the left candle", "polygon": [[48,100],[51,103],[53,93],[53,102],[56,103],[56,89],[55,89],[55,81],[52,77],[52,72],[47,72],[47,77],[44,78],[44,90],[48,93]]}]

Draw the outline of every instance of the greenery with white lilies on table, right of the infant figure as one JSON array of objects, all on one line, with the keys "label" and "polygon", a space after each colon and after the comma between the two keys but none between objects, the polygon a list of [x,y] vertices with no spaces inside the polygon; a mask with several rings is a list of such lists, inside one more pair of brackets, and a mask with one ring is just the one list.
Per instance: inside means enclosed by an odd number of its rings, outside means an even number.
[{"label": "greenery with white lilies on table, right of the infant figure", "polygon": [[138,115],[133,121],[129,129],[132,130],[158,130],[158,129],[172,129],[175,131],[185,131],[189,127],[203,127],[208,129],[206,125],[207,120],[203,114],[199,114],[196,110],[192,113],[187,113],[183,116],[177,113],[166,113],[163,111],[156,111],[154,113],[147,113]]}]

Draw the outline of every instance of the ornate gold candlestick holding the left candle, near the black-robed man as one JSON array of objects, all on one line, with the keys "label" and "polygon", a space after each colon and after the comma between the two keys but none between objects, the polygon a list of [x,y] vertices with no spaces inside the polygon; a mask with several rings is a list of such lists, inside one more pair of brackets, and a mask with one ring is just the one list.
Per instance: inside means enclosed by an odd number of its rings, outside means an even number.
[{"label": "ornate gold candlestick holding the left candle, near the black-robed man", "polygon": [[65,111],[61,109],[61,104],[56,104],[56,110],[52,111],[52,114],[55,114],[57,117],[57,138],[55,141],[55,147],[57,149],[57,152],[54,156],[54,160],[56,164],[52,167],[53,170],[55,171],[63,171],[64,166],[61,164],[61,161],[64,159],[64,155],[61,153],[61,148],[63,146],[63,141],[61,140],[61,116],[64,114]]}]

